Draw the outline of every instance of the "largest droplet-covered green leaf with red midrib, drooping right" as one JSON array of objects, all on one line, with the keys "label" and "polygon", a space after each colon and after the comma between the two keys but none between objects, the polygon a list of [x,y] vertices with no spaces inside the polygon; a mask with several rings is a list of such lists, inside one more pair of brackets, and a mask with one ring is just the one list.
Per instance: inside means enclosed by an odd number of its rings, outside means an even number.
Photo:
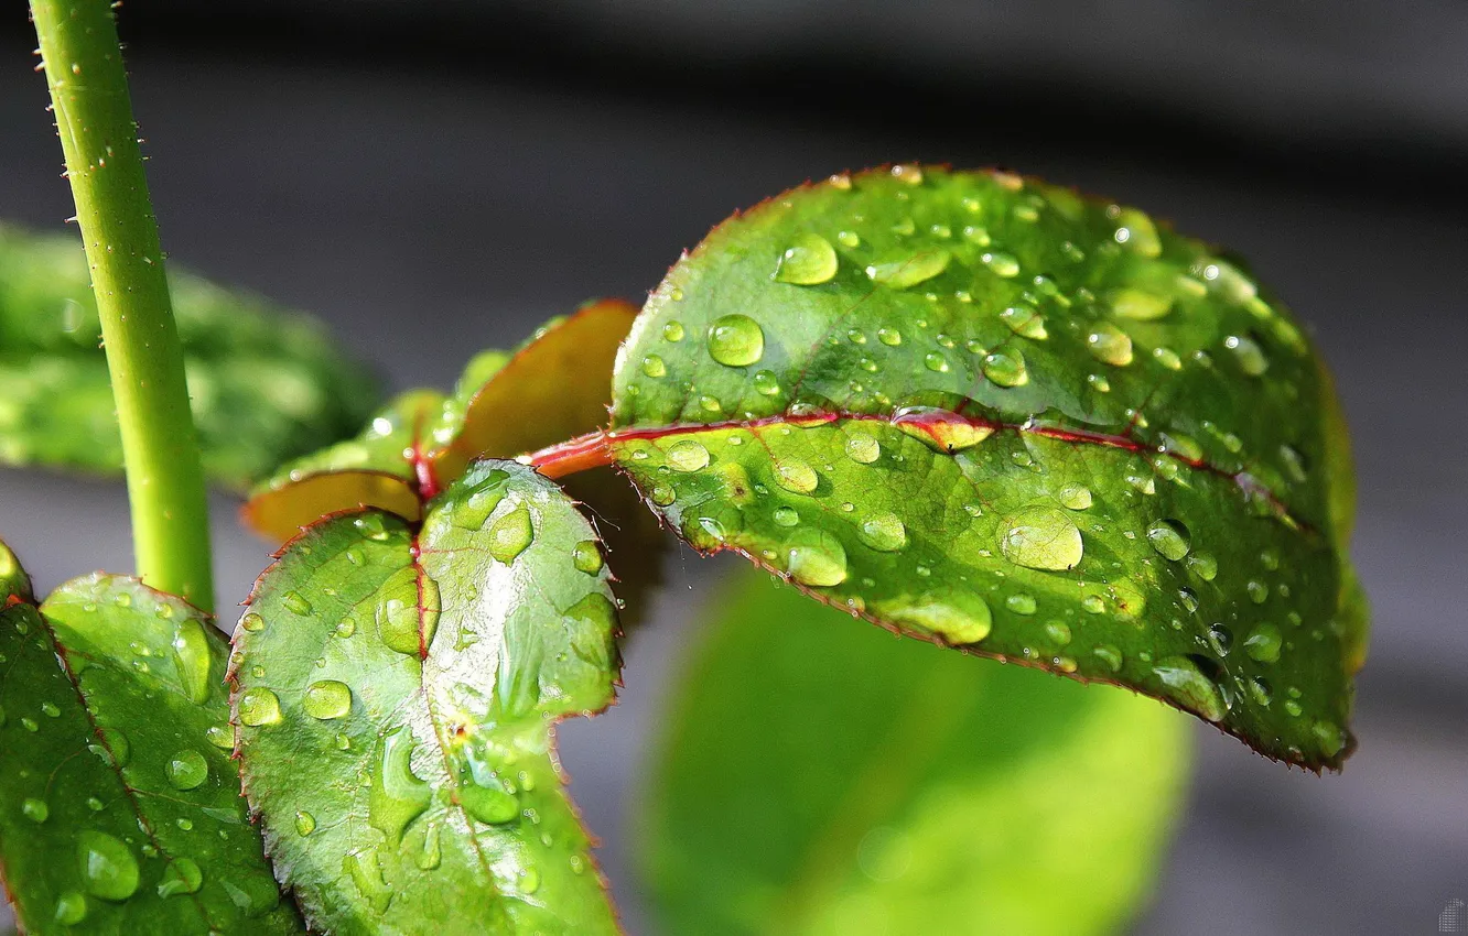
[{"label": "largest droplet-covered green leaf with red midrib, drooping right", "polygon": [[1365,618],[1323,367],[1135,208],[897,167],[725,222],[618,358],[611,450],[702,550],[1336,767]]}]

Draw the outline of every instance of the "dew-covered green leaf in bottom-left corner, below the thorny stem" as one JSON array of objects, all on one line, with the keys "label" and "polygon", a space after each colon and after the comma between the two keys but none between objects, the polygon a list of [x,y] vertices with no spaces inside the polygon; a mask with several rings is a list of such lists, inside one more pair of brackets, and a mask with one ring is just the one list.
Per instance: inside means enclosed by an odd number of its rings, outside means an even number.
[{"label": "dew-covered green leaf in bottom-left corner, below the thorny stem", "polygon": [[225,644],[88,575],[38,609],[0,544],[0,867],[34,933],[304,933],[229,760]]}]

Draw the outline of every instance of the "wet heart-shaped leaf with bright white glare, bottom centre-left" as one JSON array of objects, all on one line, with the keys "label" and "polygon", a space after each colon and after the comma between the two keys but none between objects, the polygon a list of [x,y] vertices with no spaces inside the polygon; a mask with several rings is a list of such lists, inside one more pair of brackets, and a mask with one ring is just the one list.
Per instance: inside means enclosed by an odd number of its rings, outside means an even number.
[{"label": "wet heart-shaped leaf with bright white glare, bottom centre-left", "polygon": [[367,511],[289,543],[235,632],[245,792],[332,933],[614,933],[550,729],[612,701],[590,524],[476,462],[421,530]]}]

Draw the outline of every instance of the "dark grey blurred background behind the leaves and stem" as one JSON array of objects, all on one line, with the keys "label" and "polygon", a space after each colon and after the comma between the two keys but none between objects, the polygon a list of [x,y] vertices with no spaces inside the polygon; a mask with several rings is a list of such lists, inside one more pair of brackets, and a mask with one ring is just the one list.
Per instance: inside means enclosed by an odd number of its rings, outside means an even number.
[{"label": "dark grey blurred background behind the leaves and stem", "polygon": [[[60,227],[23,4],[0,22],[0,216]],[[1198,728],[1138,933],[1431,933],[1468,898],[1468,4],[1461,0],[132,0],[164,246],[448,386],[731,210],[894,160],[1000,164],[1227,244],[1315,332],[1355,431],[1376,607],[1361,750],[1317,779]],[[222,603],[266,547],[217,502]],[[129,565],[120,484],[0,472],[43,587]],[[608,716],[562,731],[634,933],[624,805],[719,563],[669,565]],[[3,927],[3,924],[0,924]]]}]

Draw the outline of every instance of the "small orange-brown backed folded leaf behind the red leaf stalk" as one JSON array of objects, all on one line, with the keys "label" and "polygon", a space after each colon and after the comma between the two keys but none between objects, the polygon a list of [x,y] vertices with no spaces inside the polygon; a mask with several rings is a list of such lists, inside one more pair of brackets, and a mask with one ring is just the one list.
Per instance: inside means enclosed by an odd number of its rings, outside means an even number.
[{"label": "small orange-brown backed folded leaf behind the red leaf stalk", "polygon": [[617,346],[637,310],[603,299],[536,332],[518,352],[476,357],[452,396],[413,390],[351,442],[301,458],[255,489],[244,519],[288,540],[319,516],[377,506],[405,519],[471,458],[509,458],[606,421]]}]

